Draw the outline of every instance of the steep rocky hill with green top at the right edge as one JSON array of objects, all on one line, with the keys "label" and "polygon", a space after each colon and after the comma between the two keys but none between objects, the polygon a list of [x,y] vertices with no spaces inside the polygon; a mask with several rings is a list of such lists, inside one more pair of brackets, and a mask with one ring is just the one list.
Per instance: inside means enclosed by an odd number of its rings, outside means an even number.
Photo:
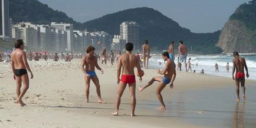
[{"label": "steep rocky hill with green top at the right edge", "polygon": [[222,29],[217,45],[227,53],[256,52],[256,0],[236,9]]}]

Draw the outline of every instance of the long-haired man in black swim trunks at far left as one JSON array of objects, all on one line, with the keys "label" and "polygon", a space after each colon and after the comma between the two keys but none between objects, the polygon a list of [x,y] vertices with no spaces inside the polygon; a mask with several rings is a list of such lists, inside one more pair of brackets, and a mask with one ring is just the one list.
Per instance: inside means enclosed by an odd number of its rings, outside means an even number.
[{"label": "long-haired man in black swim trunks at far left", "polygon": [[[11,54],[11,65],[12,65],[12,73],[14,74],[14,80],[16,80],[17,88],[17,102],[19,106],[25,106],[23,103],[22,97],[25,95],[26,91],[29,88],[29,78],[28,73],[31,74],[30,78],[33,78],[32,71],[29,68],[26,52],[24,50],[24,42],[22,40],[15,41],[14,44],[15,49]],[[23,83],[23,88],[21,91],[21,82]]]}]

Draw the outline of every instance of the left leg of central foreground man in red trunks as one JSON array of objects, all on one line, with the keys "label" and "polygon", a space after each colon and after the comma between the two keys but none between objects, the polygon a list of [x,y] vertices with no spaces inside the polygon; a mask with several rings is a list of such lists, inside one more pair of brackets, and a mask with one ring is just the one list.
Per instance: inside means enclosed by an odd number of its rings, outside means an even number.
[{"label": "left leg of central foreground man in red trunks", "polygon": [[111,113],[113,116],[117,116],[119,114],[119,106],[121,103],[121,97],[123,95],[123,91],[126,88],[126,84],[120,81],[119,86],[117,88],[117,94],[116,94],[116,110],[114,110],[114,113]]}]

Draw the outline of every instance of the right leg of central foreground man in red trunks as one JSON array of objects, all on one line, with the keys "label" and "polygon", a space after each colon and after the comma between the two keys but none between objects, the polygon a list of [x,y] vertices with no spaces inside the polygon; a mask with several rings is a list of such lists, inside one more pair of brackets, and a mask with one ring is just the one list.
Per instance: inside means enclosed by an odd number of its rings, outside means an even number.
[{"label": "right leg of central foreground man in red trunks", "polygon": [[134,114],[135,107],[136,107],[136,95],[135,95],[135,92],[136,92],[136,83],[129,84],[129,91],[130,91],[131,109],[132,109],[131,116],[136,116],[136,114]]}]

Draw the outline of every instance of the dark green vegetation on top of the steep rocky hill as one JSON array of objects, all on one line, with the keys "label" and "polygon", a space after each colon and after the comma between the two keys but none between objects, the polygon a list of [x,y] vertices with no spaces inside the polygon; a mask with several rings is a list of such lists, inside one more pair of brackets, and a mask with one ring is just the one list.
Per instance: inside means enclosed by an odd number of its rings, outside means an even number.
[{"label": "dark green vegetation on top of the steep rocky hill", "polygon": [[230,19],[241,21],[248,29],[254,31],[256,29],[256,0],[240,5]]}]

